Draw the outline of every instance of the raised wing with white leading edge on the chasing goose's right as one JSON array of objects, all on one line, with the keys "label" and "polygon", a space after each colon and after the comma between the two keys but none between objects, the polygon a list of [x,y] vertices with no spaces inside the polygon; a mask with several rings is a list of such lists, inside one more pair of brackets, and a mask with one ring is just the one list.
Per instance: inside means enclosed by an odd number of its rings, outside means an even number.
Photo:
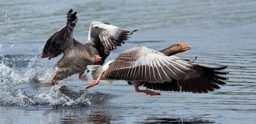
[{"label": "raised wing with white leading edge on the chasing goose's right", "polygon": [[[137,30],[133,32],[135,31]],[[92,43],[93,47],[99,51],[103,64],[106,57],[109,56],[110,50],[115,50],[117,46],[121,46],[132,33],[108,23],[92,22],[88,33],[88,43]]]}]

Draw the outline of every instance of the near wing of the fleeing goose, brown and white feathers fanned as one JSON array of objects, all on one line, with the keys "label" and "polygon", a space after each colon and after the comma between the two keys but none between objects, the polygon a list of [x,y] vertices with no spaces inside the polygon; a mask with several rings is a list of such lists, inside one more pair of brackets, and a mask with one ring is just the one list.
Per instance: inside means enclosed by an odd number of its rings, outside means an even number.
[{"label": "near wing of the fleeing goose, brown and white feathers fanned", "polygon": [[160,82],[174,79],[199,77],[192,71],[193,64],[175,56],[165,56],[164,53],[147,47],[133,47],[119,54],[111,64],[105,78],[126,81]]}]

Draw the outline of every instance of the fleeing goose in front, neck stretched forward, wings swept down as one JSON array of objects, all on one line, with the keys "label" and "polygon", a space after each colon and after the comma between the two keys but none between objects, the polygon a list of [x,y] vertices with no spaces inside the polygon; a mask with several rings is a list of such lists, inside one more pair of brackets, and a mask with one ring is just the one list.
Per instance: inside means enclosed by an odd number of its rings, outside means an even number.
[{"label": "fleeing goose in front, neck stretched forward, wings swept down", "polygon": [[227,77],[221,75],[227,74],[222,71],[227,66],[203,67],[173,56],[190,48],[184,43],[175,43],[161,51],[141,46],[125,50],[104,66],[88,66],[89,74],[96,81],[86,88],[94,87],[100,80],[125,80],[133,84],[137,92],[160,95],[155,91],[140,90],[139,86],[160,91],[202,93],[220,88],[218,84],[226,84]]}]

